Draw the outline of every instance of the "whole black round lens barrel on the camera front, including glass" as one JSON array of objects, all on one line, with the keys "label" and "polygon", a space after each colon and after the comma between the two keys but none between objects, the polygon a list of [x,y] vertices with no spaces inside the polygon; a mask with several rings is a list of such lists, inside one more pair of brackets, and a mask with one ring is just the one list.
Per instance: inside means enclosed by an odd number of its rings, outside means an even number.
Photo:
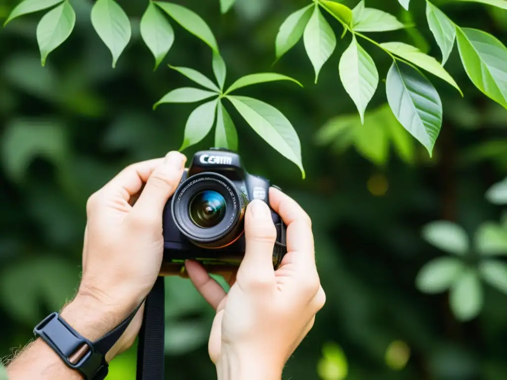
[{"label": "whole black round lens barrel on the camera front, including glass", "polygon": [[193,244],[223,248],[244,231],[248,198],[222,174],[203,172],[179,184],[171,202],[177,229]]}]

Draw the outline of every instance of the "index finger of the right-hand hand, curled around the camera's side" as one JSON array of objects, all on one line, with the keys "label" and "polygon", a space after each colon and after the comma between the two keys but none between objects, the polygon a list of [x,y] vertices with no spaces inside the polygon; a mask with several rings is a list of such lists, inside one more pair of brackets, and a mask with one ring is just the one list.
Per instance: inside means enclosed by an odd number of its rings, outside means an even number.
[{"label": "index finger of the right-hand hand, curled around the camera's side", "polygon": [[[287,254],[284,262],[291,262],[304,268],[315,267],[315,247],[311,219],[301,206],[278,189],[269,189],[269,199],[273,210],[287,225]],[[297,253],[297,254],[293,254]]]}]

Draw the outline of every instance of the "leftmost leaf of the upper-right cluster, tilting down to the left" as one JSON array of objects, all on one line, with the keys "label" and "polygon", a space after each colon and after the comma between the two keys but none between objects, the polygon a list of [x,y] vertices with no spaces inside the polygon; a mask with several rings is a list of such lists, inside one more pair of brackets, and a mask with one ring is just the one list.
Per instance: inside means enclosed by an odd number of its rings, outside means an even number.
[{"label": "leftmost leaf of the upper-right cluster, tilting down to the left", "polygon": [[309,4],[292,13],[280,25],[275,42],[276,59],[280,59],[282,55],[291,50],[301,39],[305,26],[312,15],[312,7],[313,5]]}]

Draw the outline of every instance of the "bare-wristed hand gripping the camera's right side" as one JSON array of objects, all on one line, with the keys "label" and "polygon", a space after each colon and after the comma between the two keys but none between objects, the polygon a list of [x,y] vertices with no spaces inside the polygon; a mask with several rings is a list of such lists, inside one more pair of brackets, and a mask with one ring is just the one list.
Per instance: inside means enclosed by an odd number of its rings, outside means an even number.
[{"label": "bare-wristed hand gripping the camera's right side", "polygon": [[191,281],[216,310],[208,349],[219,380],[279,379],[325,302],[310,218],[277,189],[269,198],[287,225],[287,254],[276,271],[275,226],[269,207],[258,200],[246,210],[245,256],[228,294],[200,264],[186,263]]}]

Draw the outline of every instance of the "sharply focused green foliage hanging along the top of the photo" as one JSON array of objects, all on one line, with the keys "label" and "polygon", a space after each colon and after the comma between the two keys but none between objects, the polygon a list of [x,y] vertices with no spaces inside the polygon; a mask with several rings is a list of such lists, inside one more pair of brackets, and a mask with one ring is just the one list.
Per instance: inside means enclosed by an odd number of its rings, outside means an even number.
[{"label": "sharply focused green foliage hanging along the top of the photo", "polygon": [[[5,22],[7,24],[21,15],[46,10],[59,4],[48,11],[39,22],[37,40],[43,65],[49,53],[61,45],[74,28],[76,16],[68,1],[45,0],[41,4],[41,2],[34,0],[23,0],[14,8]],[[409,10],[410,0],[399,0],[399,2],[402,7]],[[505,8],[504,3],[507,4],[505,0],[480,2],[499,8]],[[233,3],[234,1],[231,0],[221,0],[222,13],[226,13]],[[314,0],[312,4],[289,15],[280,26],[276,36],[276,59],[280,59],[303,37],[306,53],[315,71],[315,84],[322,66],[329,60],[337,46],[335,32],[323,16],[322,10],[329,13],[343,26],[342,39],[347,32],[352,35],[351,44],[340,59],[339,75],[345,91],[359,111],[361,123],[364,123],[366,108],[377,90],[379,73],[372,57],[361,47],[357,37],[376,45],[392,58],[393,62],[386,77],[388,104],[402,126],[426,147],[430,157],[442,127],[443,107],[439,93],[419,68],[446,81],[463,95],[459,86],[443,67],[449,58],[455,40],[463,67],[470,80],[485,95],[507,109],[507,68],[504,64],[507,61],[507,48],[489,33],[478,29],[459,27],[429,0],[426,0],[427,23],[442,51],[442,64],[412,45],[402,42],[379,44],[362,34],[361,32],[387,32],[410,26],[400,22],[389,13],[375,8],[367,8],[365,0],[360,0],[353,9],[335,1]],[[155,57],[155,69],[160,65],[174,41],[172,26],[162,12],[212,49],[215,75],[217,69],[222,70],[223,73],[220,74],[220,78],[217,77],[217,80],[223,82],[225,63],[220,56],[215,36],[206,22],[197,13],[186,7],[170,2],[149,0],[148,8],[141,18],[140,32],[144,43]],[[91,10],[91,21],[100,39],[111,51],[113,67],[115,67],[118,58],[131,39],[128,16],[116,0],[98,0]],[[220,68],[216,68],[215,64]],[[189,71],[189,69],[185,70]],[[195,74],[191,79],[196,80]],[[218,88],[211,85],[205,77],[200,80],[201,82],[197,81],[197,83],[219,92]],[[222,87],[223,83],[221,83],[220,89]],[[175,97],[179,96],[180,92],[169,94]],[[226,94],[227,92],[221,93],[221,95]],[[206,98],[203,96],[205,93],[200,93],[200,95],[195,93],[193,97],[190,96],[188,99],[189,101],[199,101]],[[294,132],[291,123],[280,112],[263,102],[253,101],[252,103],[248,99],[227,98],[256,132],[284,157],[299,166],[304,177],[299,137]],[[245,100],[248,104],[245,103]],[[228,123],[230,128],[222,127],[224,125],[222,115],[225,110],[222,103],[212,100],[200,105],[189,117],[185,127],[185,138],[180,149],[185,149],[201,141],[208,134],[214,123],[216,109],[220,109],[220,112],[215,144],[225,143],[228,147],[237,147],[236,133],[232,124]],[[272,120],[266,119],[268,114],[273,115]],[[225,118],[227,119],[227,116]],[[205,122],[203,122],[204,120]],[[257,126],[257,124],[259,125]],[[276,130],[274,127],[276,125],[280,125],[281,129]],[[226,133],[230,135],[227,136]],[[232,145],[229,145],[229,140]]]}]

